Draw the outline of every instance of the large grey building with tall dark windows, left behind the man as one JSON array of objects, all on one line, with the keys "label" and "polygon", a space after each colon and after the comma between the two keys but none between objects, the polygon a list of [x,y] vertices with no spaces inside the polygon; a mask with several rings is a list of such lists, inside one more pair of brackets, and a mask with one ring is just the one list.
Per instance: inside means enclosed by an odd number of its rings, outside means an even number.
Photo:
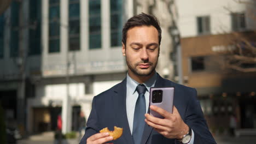
[{"label": "large grey building with tall dark windows, left behind the man", "polygon": [[[88,118],[92,98],[126,76],[121,55],[124,21],[142,11],[160,15],[164,2],[152,2],[11,2],[0,19],[0,98],[7,117],[28,133],[55,130],[59,115],[63,133],[78,130],[80,111]],[[160,20],[168,23],[163,26],[158,71],[172,79],[171,16]]]}]

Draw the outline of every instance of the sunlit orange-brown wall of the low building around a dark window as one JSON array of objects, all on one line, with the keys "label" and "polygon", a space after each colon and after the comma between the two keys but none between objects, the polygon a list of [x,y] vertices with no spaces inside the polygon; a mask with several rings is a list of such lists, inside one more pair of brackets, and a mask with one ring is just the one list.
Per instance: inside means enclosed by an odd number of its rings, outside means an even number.
[{"label": "sunlit orange-brown wall of the low building around a dark window", "polygon": [[[231,70],[225,68],[223,54],[230,48],[233,37],[232,34],[219,34],[183,38],[181,44],[183,75],[187,81],[185,84],[196,88],[221,87],[225,78],[255,77],[255,73],[231,73]],[[216,51],[216,48],[221,51]],[[192,71],[191,57],[204,57],[205,68],[201,71]]]}]

